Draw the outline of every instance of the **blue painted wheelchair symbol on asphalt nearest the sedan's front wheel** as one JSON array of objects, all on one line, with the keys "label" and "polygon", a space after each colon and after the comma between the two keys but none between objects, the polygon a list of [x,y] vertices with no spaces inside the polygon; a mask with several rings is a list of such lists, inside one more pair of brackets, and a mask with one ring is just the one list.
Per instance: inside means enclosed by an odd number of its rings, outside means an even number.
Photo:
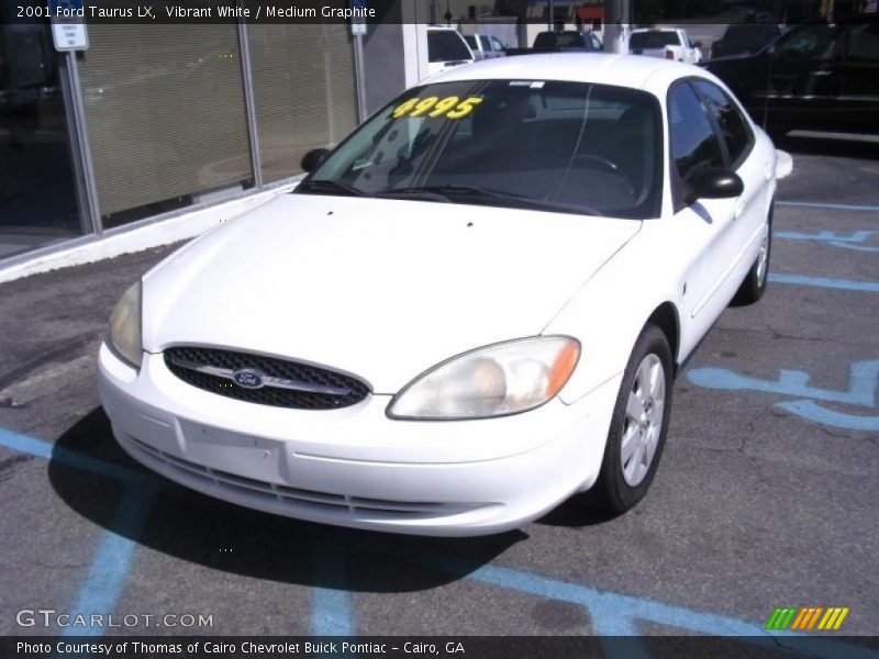
[{"label": "blue painted wheelchair symbol on asphalt nearest the sedan's front wheel", "polygon": [[854,362],[849,368],[848,391],[810,387],[809,377],[805,371],[786,369],[779,371],[776,380],[752,378],[725,368],[697,368],[687,371],[690,382],[708,389],[795,396],[800,400],[776,403],[775,406],[808,421],[847,431],[879,431],[879,415],[846,414],[827,410],[819,403],[843,403],[876,411],[879,360]]}]

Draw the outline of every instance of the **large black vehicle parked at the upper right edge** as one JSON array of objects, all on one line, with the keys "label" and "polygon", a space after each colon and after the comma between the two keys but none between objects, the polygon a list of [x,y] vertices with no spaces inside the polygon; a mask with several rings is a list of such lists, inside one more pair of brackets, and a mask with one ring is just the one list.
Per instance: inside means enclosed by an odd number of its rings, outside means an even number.
[{"label": "large black vehicle parked at the upper right edge", "polygon": [[704,65],[777,134],[879,133],[879,15],[803,23],[749,57]]}]

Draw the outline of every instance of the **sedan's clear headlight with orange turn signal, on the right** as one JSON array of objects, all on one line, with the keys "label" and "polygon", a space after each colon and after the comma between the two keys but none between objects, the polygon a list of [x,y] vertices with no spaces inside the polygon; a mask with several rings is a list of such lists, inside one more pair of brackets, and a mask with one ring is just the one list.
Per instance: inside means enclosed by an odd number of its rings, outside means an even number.
[{"label": "sedan's clear headlight with orange turn signal, on the right", "polygon": [[525,412],[555,396],[580,358],[569,336],[536,336],[453,357],[407,384],[392,418],[485,418]]}]

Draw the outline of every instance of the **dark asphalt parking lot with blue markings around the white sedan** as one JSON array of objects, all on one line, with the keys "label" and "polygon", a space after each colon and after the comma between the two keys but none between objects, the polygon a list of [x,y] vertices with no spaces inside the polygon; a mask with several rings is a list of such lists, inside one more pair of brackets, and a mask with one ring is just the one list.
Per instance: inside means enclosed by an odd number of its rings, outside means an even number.
[{"label": "dark asphalt parking lot with blue markings around the white sedan", "polygon": [[879,146],[779,146],[769,290],[681,373],[653,489],[613,520],[578,496],[414,538],[190,492],[123,455],[96,390],[113,304],[171,248],[0,284],[0,634],[63,632],[20,626],[51,608],[178,616],[108,635],[757,635],[777,606],[843,606],[841,633],[876,635]]}]

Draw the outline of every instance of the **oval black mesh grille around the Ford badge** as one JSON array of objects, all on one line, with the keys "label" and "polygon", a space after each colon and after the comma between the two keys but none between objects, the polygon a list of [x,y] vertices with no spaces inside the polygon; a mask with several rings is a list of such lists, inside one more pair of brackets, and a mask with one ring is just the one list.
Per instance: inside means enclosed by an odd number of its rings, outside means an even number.
[{"label": "oval black mesh grille around the Ford badge", "polygon": [[[297,361],[219,348],[168,348],[165,350],[165,365],[192,387],[260,405],[336,410],[359,403],[369,394],[369,388],[352,376]],[[265,376],[267,382],[274,383],[256,389],[244,387],[232,377],[237,371],[256,371]]]}]

